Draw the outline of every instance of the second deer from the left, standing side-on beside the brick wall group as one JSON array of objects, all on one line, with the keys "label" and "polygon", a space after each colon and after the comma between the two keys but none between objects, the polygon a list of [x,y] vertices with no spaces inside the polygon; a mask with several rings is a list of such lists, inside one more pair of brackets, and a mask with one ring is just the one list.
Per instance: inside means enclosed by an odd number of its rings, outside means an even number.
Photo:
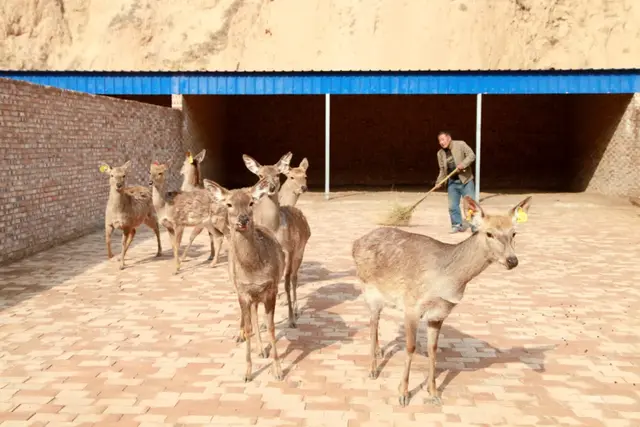
[{"label": "second deer from the left, standing side-on beside the brick wall group", "polygon": [[217,264],[223,234],[228,232],[226,225],[226,210],[224,206],[215,203],[209,192],[204,189],[193,191],[166,191],[167,165],[153,163],[150,167],[153,207],[156,210],[158,222],[162,224],[171,237],[173,257],[176,262],[175,274],[180,270],[179,257],[180,242],[185,227],[201,226],[213,234],[218,247],[211,266]]}]

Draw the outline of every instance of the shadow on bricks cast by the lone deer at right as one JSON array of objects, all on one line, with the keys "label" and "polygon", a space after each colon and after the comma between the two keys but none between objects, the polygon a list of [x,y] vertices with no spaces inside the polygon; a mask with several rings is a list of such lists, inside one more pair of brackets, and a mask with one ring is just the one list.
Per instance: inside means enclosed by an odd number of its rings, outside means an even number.
[{"label": "shadow on bricks cast by the lone deer at right", "polygon": [[[384,322],[381,318],[380,322]],[[426,337],[426,323],[422,321],[418,329],[417,348],[416,355],[427,355],[427,337]],[[405,334],[404,325],[400,325],[398,329],[398,335],[393,341],[384,343],[384,337],[381,338],[381,348],[383,352],[383,360],[378,364],[378,375],[384,370],[389,360],[396,354],[401,353],[401,357],[405,355]],[[467,335],[464,332],[459,331],[453,326],[449,326],[446,323],[442,325],[440,330],[440,337],[438,339],[438,352],[436,355],[436,384],[438,385],[438,392],[443,393],[445,388],[451,384],[451,382],[463,371],[473,372],[477,370],[483,370],[492,365],[509,364],[509,363],[522,363],[529,366],[533,371],[538,373],[545,372],[544,361],[545,353],[553,350],[555,345],[546,345],[540,347],[512,347],[509,349],[499,349],[493,347],[491,344]],[[473,361],[459,362],[459,358],[465,358]],[[415,360],[415,359],[414,359]],[[456,368],[443,368],[443,364],[451,366],[452,362],[458,365]],[[459,366],[463,366],[460,368]],[[446,375],[442,381],[439,381],[440,374],[446,371]],[[409,391],[409,396],[412,399],[418,391],[423,388],[426,389],[428,374],[427,372],[420,372],[417,369],[417,364],[412,365],[410,380],[415,378],[416,374],[422,374],[424,376],[423,381],[415,388]]]}]

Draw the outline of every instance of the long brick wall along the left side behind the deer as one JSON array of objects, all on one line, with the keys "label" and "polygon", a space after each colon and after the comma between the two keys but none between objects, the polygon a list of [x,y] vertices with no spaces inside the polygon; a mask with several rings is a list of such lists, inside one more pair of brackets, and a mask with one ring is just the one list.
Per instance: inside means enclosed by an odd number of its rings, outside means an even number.
[{"label": "long brick wall along the left side behind the deer", "polygon": [[182,114],[170,108],[0,79],[0,263],[104,226],[100,162],[132,161],[147,185],[152,160],[174,160]]}]

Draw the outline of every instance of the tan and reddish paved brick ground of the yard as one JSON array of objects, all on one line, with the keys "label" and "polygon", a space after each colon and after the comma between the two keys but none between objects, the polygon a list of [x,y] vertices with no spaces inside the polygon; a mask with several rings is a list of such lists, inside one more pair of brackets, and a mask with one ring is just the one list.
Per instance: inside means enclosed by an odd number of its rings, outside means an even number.
[{"label": "tan and reddish paved brick ground of the yard", "polygon": [[[393,197],[302,198],[313,236],[300,276],[299,329],[278,325],[282,382],[257,356],[254,381],[241,381],[226,254],[209,268],[205,233],[178,276],[164,231],[163,258],[153,258],[154,239],[144,231],[123,271],[106,261],[102,233],[2,268],[0,426],[640,424],[639,209],[535,195],[518,236],[518,268],[491,266],[443,327],[443,406],[425,403],[420,356],[415,394],[400,408],[401,318],[384,312],[387,361],[370,380],[368,315],[350,257],[353,239]],[[412,229],[460,240],[447,234],[444,197],[428,199]],[[506,209],[521,197],[484,205]],[[280,305],[277,320],[285,315]],[[424,353],[423,331],[420,340]]]}]

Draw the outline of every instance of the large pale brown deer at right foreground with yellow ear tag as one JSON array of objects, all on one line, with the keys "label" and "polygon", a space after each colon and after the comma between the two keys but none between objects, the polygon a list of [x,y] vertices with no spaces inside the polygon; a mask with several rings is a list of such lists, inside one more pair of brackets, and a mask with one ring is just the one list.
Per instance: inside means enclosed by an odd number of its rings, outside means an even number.
[{"label": "large pale brown deer at right foreground with yellow ear tag", "polygon": [[435,383],[436,351],[442,323],[462,300],[467,283],[491,263],[508,270],[518,265],[513,238],[515,226],[526,221],[531,196],[508,211],[507,215],[485,214],[479,203],[463,199],[464,212],[471,216],[477,231],[458,244],[397,228],[377,228],[353,243],[356,274],[364,284],[364,297],[371,313],[371,371],[377,377],[378,322],[385,306],[404,312],[406,362],[399,386],[400,405],[409,403],[409,370],[416,349],[418,322],[426,316],[428,324],[429,396],[441,404]]}]

